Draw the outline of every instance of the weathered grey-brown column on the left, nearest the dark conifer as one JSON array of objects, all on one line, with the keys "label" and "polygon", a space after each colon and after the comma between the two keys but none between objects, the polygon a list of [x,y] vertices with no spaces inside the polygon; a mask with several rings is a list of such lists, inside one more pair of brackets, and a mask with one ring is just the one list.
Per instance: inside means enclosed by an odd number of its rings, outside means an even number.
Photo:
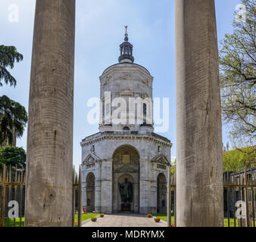
[{"label": "weathered grey-brown column on the left, nearest the dark conifer", "polygon": [[36,1],[26,226],[72,226],[75,0]]}]

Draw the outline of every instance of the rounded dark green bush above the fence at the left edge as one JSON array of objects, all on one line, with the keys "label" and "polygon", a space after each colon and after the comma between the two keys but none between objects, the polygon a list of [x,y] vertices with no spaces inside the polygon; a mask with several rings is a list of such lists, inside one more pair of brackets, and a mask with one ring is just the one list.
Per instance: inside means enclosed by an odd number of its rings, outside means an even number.
[{"label": "rounded dark green bush above the fence at the left edge", "polygon": [[0,163],[24,169],[26,167],[26,151],[23,150],[23,147],[0,147]]}]

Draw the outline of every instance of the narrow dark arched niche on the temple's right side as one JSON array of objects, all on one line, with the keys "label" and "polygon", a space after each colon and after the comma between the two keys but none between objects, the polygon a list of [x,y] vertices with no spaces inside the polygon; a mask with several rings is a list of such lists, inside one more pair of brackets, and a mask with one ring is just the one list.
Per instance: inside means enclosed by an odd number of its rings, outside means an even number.
[{"label": "narrow dark arched niche on the temple's right side", "polygon": [[167,212],[167,180],[163,173],[158,175],[158,213]]}]

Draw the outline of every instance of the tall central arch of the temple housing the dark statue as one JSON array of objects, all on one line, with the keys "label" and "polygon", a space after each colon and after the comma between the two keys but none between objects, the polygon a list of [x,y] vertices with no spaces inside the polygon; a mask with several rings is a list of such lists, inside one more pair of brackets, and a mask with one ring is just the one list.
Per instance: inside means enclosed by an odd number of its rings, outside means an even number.
[{"label": "tall central arch of the temple housing the dark statue", "polygon": [[[139,152],[131,145],[118,147],[113,153],[112,169],[113,213],[139,213]],[[122,201],[121,193],[124,192],[125,194],[130,187],[133,190],[132,200],[128,198]]]}]

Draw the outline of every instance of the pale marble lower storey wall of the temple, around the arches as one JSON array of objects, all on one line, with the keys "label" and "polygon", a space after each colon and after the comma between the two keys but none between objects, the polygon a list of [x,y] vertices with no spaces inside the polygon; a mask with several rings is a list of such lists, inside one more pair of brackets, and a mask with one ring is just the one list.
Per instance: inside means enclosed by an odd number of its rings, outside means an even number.
[{"label": "pale marble lower storey wall of the temple, around the arches", "polygon": [[[128,178],[133,183],[134,213],[164,213],[166,206],[158,208],[161,201],[167,203],[167,190],[158,191],[158,175],[167,181],[170,166],[170,141],[161,140],[151,134],[120,135],[104,132],[92,135],[82,143],[83,159],[83,206],[86,206],[86,177],[95,175],[95,211],[101,213],[120,212],[118,183]],[[122,147],[124,149],[122,149]],[[130,163],[122,163],[123,152],[130,154]],[[113,172],[114,171],[114,172]],[[166,184],[161,183],[161,186]],[[164,195],[163,195],[164,194]],[[164,198],[163,198],[164,196]],[[160,202],[158,201],[160,200]]]}]

